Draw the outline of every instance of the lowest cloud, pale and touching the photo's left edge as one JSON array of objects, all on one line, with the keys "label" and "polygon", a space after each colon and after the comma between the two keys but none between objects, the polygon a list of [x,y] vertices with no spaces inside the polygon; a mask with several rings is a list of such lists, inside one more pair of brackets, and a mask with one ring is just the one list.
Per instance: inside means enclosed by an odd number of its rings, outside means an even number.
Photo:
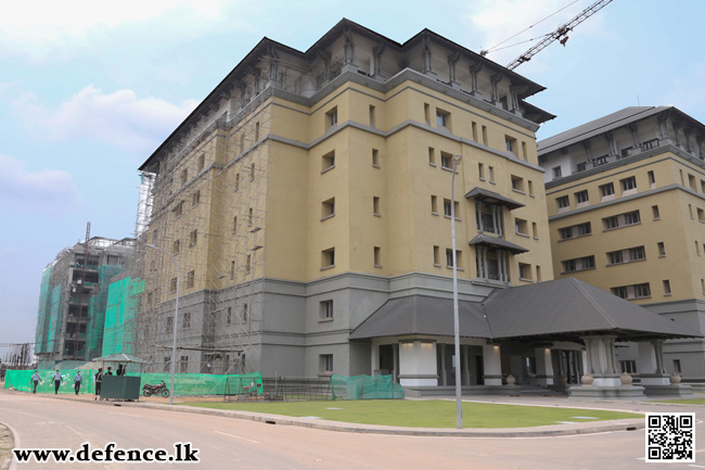
[{"label": "lowest cloud, pale and touching the photo's left edge", "polygon": [[0,203],[51,211],[76,201],[74,178],[61,169],[30,170],[25,161],[0,154]]}]

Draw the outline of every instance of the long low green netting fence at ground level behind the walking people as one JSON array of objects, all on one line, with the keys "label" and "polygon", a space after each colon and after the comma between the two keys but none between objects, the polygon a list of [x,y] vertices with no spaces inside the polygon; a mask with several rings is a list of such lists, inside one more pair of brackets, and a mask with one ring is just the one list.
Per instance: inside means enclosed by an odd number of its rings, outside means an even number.
[{"label": "long low green netting fence at ground level behind the walking people", "polygon": [[[37,393],[54,393],[53,378],[55,370],[39,370],[41,381],[37,386]],[[78,370],[61,370],[62,382],[59,386],[59,393],[75,393],[74,378]],[[93,378],[98,369],[80,370],[84,378],[80,393],[94,393],[95,385]],[[31,376],[34,370],[8,370],[5,374],[5,389],[13,389],[21,392],[31,392]],[[139,373],[128,372],[128,376],[140,376]],[[170,373],[142,373],[142,385],[149,383],[153,385],[166,382],[167,388],[171,386]],[[223,395],[226,392],[231,395],[243,393],[244,386],[255,383],[257,395],[261,395],[262,383],[261,373],[240,373],[240,374],[209,374],[209,373],[177,373],[175,374],[175,396],[177,395]]]}]

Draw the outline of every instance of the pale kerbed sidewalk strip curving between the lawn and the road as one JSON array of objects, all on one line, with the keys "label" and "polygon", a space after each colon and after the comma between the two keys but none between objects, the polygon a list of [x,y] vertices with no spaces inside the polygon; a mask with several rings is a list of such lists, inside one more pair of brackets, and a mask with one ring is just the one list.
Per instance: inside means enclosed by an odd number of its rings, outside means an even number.
[{"label": "pale kerbed sidewalk strip curving between the lawn and the road", "polygon": [[[25,394],[25,392],[14,392],[2,390],[2,393]],[[397,435],[415,435],[415,436],[456,436],[456,437],[539,437],[556,435],[575,435],[590,434],[598,432],[611,431],[636,431],[644,428],[644,419],[623,419],[613,421],[597,422],[571,422],[553,425],[542,425],[536,428],[503,428],[503,429],[440,429],[440,428],[400,428],[389,425],[360,424],[342,421],[329,421],[312,418],[295,418],[280,415],[268,415],[261,412],[249,412],[242,410],[223,410],[210,408],[197,408],[190,406],[180,406],[175,404],[168,405],[168,398],[149,397],[141,398],[140,402],[116,402],[116,401],[94,401],[93,395],[52,395],[37,394],[42,398],[66,399],[74,402],[93,403],[102,406],[120,406],[133,408],[161,409],[172,412],[191,412],[196,415],[221,416],[227,418],[246,419],[268,424],[278,425],[298,425],[304,428],[320,429],[325,431],[337,432],[357,432],[372,434],[397,434]],[[198,402],[221,402],[222,398],[202,398]],[[426,398],[414,398],[426,399]],[[433,397],[433,399],[454,399],[454,397]],[[176,398],[177,403],[194,402],[192,397],[188,399]],[[646,412],[646,408],[662,409],[666,407],[683,407],[685,405],[674,404],[654,404],[649,402],[582,402],[568,401],[567,397],[498,397],[498,396],[473,396],[472,399],[464,402],[482,402],[502,405],[524,405],[524,406],[546,406],[546,407],[564,407],[564,408],[584,408],[584,409],[607,409],[631,412]],[[693,405],[689,405],[692,407]],[[692,408],[691,408],[692,409]]]}]

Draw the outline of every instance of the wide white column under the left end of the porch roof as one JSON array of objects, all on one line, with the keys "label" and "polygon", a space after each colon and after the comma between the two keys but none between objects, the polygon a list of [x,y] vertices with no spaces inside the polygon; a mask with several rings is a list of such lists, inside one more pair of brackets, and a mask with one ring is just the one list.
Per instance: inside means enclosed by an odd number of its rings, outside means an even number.
[{"label": "wide white column under the left end of the porch roof", "polygon": [[436,343],[420,340],[399,343],[399,383],[402,386],[438,386]]}]

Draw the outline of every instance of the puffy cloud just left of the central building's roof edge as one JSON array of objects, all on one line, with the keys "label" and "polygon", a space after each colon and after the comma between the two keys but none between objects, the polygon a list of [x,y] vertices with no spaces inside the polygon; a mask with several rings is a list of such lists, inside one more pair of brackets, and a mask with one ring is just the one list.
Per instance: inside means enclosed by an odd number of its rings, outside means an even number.
[{"label": "puffy cloud just left of the central building's roof edge", "polygon": [[15,110],[47,140],[93,140],[145,153],[156,149],[197,103],[187,100],[176,105],[156,98],[138,98],[127,89],[105,94],[89,85],[56,109],[48,109],[26,94],[15,102]]}]

